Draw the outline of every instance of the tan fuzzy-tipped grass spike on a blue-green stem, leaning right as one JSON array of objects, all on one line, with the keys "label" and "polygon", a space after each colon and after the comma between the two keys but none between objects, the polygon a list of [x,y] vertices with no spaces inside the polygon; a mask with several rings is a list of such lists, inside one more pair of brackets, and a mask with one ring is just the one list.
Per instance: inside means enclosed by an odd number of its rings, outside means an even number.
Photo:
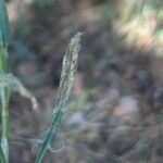
[{"label": "tan fuzzy-tipped grass spike on a blue-green stem, leaning right", "polygon": [[35,163],[42,163],[47,151],[51,148],[55,131],[61,125],[64,114],[68,108],[70,97],[75,79],[75,73],[77,71],[77,59],[78,52],[80,50],[80,36],[82,34],[78,33],[72,38],[66,53],[63,58],[59,96],[57,104],[53,109],[52,124],[50,126],[48,135],[43,140],[43,143],[41,145]]}]

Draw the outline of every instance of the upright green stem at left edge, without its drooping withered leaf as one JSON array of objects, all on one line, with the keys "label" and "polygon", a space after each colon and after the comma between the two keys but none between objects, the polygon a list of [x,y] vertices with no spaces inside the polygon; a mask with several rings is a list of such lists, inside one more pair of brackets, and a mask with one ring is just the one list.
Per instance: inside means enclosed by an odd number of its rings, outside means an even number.
[{"label": "upright green stem at left edge, without its drooping withered leaf", "polygon": [[[0,73],[8,73],[8,46],[10,43],[10,26],[7,8],[0,0]],[[9,88],[0,88],[2,101],[2,135],[1,135],[1,162],[9,162]],[[3,163],[3,162],[2,162]]]}]

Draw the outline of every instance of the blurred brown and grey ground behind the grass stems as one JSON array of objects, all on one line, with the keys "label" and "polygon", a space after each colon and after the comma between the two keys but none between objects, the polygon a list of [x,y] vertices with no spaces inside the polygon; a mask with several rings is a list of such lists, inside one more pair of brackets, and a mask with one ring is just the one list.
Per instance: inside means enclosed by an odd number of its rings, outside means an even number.
[{"label": "blurred brown and grey ground behind the grass stems", "polygon": [[163,1],[8,0],[11,163],[33,163],[51,122],[62,57],[84,33],[70,110],[45,163],[163,162]]}]

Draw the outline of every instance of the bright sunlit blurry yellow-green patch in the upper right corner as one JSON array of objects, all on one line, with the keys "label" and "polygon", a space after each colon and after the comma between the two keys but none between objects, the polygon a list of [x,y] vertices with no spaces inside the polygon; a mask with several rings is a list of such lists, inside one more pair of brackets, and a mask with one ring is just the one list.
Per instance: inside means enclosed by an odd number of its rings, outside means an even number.
[{"label": "bright sunlit blurry yellow-green patch in the upper right corner", "polygon": [[162,0],[106,0],[102,20],[117,36],[123,36],[127,45],[138,49],[162,46]]}]

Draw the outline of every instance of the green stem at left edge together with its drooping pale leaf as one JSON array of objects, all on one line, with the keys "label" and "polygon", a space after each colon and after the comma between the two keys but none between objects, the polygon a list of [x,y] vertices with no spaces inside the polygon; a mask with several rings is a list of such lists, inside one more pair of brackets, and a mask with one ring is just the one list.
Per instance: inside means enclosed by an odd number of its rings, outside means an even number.
[{"label": "green stem at left edge together with its drooping pale leaf", "polygon": [[36,99],[29,93],[17,78],[9,73],[8,67],[8,47],[10,45],[10,25],[5,3],[0,0],[0,92],[2,103],[2,134],[0,147],[1,163],[9,162],[9,99],[10,89],[18,91],[22,96],[29,98],[34,108],[37,108]]}]

